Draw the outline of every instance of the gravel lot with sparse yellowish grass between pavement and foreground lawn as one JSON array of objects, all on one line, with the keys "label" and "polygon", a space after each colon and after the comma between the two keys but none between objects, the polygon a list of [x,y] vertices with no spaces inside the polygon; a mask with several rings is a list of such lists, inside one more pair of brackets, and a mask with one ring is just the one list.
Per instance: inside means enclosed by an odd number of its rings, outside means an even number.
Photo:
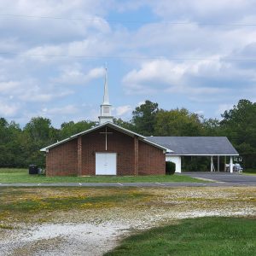
[{"label": "gravel lot with sparse yellowish grass between pavement and foreground lawn", "polygon": [[[30,188],[1,192],[0,204],[8,210],[0,208],[0,255],[102,255],[135,230],[181,218],[256,216],[254,187]],[[63,207],[70,198],[75,203]],[[83,206],[84,198],[89,201]],[[46,209],[41,206],[43,199],[60,202]],[[15,207],[17,202],[27,207],[32,200],[38,203],[28,207],[28,212]]]}]

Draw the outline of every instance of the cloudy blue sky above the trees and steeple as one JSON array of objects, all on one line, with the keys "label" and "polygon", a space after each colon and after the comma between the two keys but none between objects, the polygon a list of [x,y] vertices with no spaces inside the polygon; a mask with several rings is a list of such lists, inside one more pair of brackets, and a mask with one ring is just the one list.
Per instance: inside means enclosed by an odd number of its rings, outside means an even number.
[{"label": "cloudy blue sky above the trees and steeple", "polygon": [[256,0],[0,0],[0,117],[97,120],[145,100],[206,118],[256,102]]}]

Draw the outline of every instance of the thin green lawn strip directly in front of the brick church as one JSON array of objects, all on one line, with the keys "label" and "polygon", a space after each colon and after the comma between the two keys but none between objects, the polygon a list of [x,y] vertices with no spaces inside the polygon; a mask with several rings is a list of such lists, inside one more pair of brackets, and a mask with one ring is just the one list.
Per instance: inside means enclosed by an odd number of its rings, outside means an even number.
[{"label": "thin green lawn strip directly in front of the brick church", "polygon": [[205,183],[197,178],[183,175],[158,176],[91,176],[91,177],[45,177],[29,175],[27,169],[0,169],[0,183],[155,183],[155,182],[189,182]]}]

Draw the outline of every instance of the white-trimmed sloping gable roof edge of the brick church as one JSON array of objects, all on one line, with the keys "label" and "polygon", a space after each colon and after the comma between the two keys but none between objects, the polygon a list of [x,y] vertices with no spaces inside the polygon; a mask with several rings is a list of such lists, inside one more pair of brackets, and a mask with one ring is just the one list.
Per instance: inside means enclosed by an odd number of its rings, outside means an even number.
[{"label": "white-trimmed sloping gable roof edge of the brick church", "polygon": [[84,134],[87,134],[87,133],[90,133],[91,131],[96,131],[102,127],[104,127],[105,125],[107,125],[108,127],[110,128],[113,128],[114,130],[116,131],[120,131],[122,133],[125,133],[126,135],[128,136],[131,136],[131,137],[138,137],[139,140],[143,141],[144,143],[148,143],[150,145],[153,145],[154,147],[156,148],[160,148],[160,149],[163,149],[163,150],[166,150],[167,152],[171,152],[172,150],[170,150],[169,148],[166,148],[165,146],[162,146],[158,143],[154,143],[152,142],[151,140],[148,140],[147,137],[143,137],[142,135],[140,134],[137,134],[136,132],[134,131],[130,131],[130,130],[127,130],[119,125],[114,125],[112,122],[106,122],[106,123],[103,123],[102,125],[97,125],[95,127],[92,127],[90,128],[89,130],[86,130],[86,131],[82,131],[82,132],[79,132],[77,134],[74,134],[73,136],[71,137],[67,137],[66,139],[60,141],[60,142],[57,142],[57,143],[54,143],[54,144],[51,144],[45,148],[41,148],[40,151],[43,151],[43,152],[46,152],[48,151],[50,148],[55,148],[56,146],[62,144],[62,143],[67,143],[68,141],[71,141],[73,140],[74,138],[77,138],[79,136],[83,136]]}]

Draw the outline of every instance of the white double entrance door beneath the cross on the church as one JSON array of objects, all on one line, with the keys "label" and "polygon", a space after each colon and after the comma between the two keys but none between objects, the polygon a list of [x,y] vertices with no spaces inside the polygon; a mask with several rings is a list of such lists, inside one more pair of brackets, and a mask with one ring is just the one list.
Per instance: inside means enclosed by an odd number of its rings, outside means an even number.
[{"label": "white double entrance door beneath the cross on the church", "polygon": [[96,175],[116,175],[116,153],[96,153]]}]

